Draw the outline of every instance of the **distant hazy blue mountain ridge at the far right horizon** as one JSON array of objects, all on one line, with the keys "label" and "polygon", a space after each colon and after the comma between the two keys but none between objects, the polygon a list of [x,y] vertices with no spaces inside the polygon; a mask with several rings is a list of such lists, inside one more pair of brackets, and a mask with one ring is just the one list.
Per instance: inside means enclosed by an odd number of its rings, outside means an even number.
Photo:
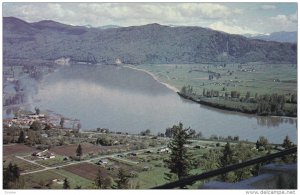
[{"label": "distant hazy blue mountain ridge at the far right horizon", "polygon": [[297,32],[273,32],[270,35],[256,35],[256,36],[247,36],[251,39],[260,39],[265,41],[277,41],[282,43],[297,43]]}]

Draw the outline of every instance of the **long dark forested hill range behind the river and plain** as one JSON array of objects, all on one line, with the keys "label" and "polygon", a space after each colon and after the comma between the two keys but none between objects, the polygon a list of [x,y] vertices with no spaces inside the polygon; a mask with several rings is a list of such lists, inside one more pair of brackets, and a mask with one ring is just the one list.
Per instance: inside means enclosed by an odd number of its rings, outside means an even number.
[{"label": "long dark forested hill range behind the river and plain", "polygon": [[28,23],[3,18],[4,58],[58,59],[111,64],[290,62],[297,45],[251,40],[201,27],[159,24],[87,28],[55,21]]}]

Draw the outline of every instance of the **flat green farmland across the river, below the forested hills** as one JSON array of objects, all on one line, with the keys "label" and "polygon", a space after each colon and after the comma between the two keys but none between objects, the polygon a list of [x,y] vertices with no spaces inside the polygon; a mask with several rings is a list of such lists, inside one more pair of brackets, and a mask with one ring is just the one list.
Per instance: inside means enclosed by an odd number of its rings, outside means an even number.
[{"label": "flat green farmland across the river, below the forested hills", "polygon": [[[288,94],[297,92],[297,65],[295,64],[144,64],[138,68],[153,73],[160,81],[177,89],[190,85],[198,94],[203,89],[225,92],[239,91],[251,97],[260,94]],[[209,80],[209,75],[220,74],[220,78]],[[224,90],[225,88],[225,90]]]}]

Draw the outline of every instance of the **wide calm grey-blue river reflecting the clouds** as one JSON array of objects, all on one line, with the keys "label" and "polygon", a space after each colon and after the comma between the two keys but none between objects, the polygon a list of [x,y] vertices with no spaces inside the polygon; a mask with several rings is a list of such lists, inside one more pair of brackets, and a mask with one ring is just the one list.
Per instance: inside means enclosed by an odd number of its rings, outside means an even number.
[{"label": "wide calm grey-blue river reflecting the clouds", "polygon": [[44,78],[35,105],[80,119],[83,129],[139,133],[165,132],[182,122],[203,136],[239,136],[256,141],[265,136],[282,143],[285,136],[297,142],[296,119],[258,117],[221,111],[179,97],[145,72],[127,67],[73,65]]}]

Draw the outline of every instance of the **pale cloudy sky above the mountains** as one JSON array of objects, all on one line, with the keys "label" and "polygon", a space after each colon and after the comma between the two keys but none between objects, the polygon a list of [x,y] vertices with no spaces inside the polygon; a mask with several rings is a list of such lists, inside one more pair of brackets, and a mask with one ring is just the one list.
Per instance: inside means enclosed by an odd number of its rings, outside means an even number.
[{"label": "pale cloudy sky above the mountains", "polygon": [[233,34],[297,31],[297,3],[3,3],[3,16],[28,22],[201,26]]}]

